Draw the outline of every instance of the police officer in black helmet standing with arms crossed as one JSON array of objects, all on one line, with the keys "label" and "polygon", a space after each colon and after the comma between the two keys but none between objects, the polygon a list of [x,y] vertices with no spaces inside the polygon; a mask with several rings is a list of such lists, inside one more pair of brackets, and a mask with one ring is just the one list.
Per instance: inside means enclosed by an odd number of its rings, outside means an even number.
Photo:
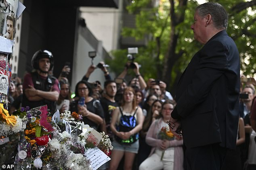
[{"label": "police officer in black helmet standing with arms crossed", "polygon": [[53,67],[53,56],[48,50],[38,50],[31,60],[34,72],[27,73],[23,83],[22,106],[35,108],[47,105],[51,114],[56,111],[59,97],[59,81],[48,74]]}]

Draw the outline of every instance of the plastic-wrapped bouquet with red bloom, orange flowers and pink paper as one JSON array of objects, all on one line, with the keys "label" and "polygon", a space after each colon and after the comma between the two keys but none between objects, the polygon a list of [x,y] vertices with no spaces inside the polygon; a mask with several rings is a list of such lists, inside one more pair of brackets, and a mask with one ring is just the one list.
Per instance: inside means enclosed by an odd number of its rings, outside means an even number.
[{"label": "plastic-wrapped bouquet with red bloom, orange flowers and pink paper", "polygon": [[[18,153],[15,164],[18,168],[26,169],[31,167],[31,161],[36,168],[42,167],[41,157],[46,150],[54,130],[48,118],[47,106],[40,106],[27,111],[27,126],[24,131],[25,139],[21,139],[18,151],[25,151],[24,156]],[[29,166],[28,166],[29,165]],[[30,168],[27,168],[30,169]]]}]

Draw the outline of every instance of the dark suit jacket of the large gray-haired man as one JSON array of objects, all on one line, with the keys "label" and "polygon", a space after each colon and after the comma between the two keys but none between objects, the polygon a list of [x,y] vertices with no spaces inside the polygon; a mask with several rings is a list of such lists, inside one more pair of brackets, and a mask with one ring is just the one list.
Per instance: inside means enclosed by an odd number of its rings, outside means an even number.
[{"label": "dark suit jacket of the large gray-haired man", "polygon": [[172,118],[181,120],[186,147],[212,143],[234,149],[239,117],[239,52],[220,31],[197,52],[176,91]]}]

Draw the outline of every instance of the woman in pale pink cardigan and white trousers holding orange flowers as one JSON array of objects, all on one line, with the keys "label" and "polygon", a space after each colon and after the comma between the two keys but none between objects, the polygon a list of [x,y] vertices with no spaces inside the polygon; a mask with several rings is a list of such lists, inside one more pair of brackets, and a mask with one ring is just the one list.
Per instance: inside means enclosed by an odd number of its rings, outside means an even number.
[{"label": "woman in pale pink cardigan and white trousers holding orange flowers", "polygon": [[166,100],[162,105],[161,118],[156,119],[149,127],[146,143],[152,149],[139,170],[183,170],[183,140],[178,140],[166,124],[173,109],[174,102]]}]

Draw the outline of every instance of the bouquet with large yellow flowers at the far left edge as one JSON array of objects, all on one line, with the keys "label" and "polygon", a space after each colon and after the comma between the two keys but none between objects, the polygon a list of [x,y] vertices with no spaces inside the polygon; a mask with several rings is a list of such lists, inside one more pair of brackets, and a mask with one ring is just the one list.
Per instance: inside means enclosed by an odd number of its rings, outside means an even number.
[{"label": "bouquet with large yellow flowers at the far left edge", "polygon": [[12,164],[17,154],[17,146],[27,122],[26,111],[21,108],[9,115],[4,105],[0,104],[0,164]]}]

